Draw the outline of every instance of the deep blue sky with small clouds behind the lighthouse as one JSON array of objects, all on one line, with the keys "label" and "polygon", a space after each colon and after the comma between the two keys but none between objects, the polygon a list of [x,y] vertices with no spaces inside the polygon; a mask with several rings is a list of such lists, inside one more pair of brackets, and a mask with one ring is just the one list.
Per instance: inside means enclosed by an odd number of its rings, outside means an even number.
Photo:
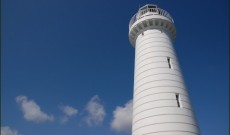
[{"label": "deep blue sky with small clouds behind the lighthouse", "polygon": [[146,3],[174,18],[174,46],[202,135],[228,135],[227,0],[2,0],[1,130],[130,134],[117,114],[130,113],[128,24]]}]

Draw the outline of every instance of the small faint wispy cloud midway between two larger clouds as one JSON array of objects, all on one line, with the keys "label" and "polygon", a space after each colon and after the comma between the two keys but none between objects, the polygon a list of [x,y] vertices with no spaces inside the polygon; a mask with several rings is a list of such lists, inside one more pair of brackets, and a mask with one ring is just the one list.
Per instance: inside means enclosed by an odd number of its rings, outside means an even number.
[{"label": "small faint wispy cloud midway between two larger clouds", "polygon": [[69,121],[70,117],[77,115],[78,110],[71,106],[61,106],[60,109],[64,113],[64,116],[61,118],[61,123],[66,123]]}]

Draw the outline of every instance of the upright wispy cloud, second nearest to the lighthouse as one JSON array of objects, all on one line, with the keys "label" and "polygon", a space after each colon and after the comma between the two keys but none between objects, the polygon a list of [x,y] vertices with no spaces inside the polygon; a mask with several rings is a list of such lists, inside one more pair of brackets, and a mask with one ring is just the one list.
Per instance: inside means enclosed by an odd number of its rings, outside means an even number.
[{"label": "upright wispy cloud, second nearest to the lighthouse", "polygon": [[102,124],[105,118],[104,106],[100,103],[97,95],[93,96],[86,105],[88,115],[85,117],[85,122],[89,126],[97,126]]}]

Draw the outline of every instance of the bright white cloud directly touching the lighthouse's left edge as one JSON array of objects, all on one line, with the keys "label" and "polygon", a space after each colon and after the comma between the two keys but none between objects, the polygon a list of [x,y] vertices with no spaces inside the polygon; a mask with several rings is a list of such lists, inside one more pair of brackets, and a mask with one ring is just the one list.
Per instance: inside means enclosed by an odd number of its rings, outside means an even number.
[{"label": "bright white cloud directly touching the lighthouse's left edge", "polygon": [[113,120],[111,128],[117,132],[131,132],[132,116],[133,116],[133,101],[128,101],[124,107],[117,106],[113,111]]}]

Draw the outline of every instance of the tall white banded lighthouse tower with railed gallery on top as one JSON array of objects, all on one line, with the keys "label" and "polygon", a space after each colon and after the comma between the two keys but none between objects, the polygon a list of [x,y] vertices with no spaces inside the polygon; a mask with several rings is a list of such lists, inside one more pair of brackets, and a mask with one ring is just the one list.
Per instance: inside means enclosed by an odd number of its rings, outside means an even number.
[{"label": "tall white banded lighthouse tower with railed gallery on top", "polygon": [[132,135],[200,135],[181,74],[172,17],[147,4],[132,17],[135,48]]}]

